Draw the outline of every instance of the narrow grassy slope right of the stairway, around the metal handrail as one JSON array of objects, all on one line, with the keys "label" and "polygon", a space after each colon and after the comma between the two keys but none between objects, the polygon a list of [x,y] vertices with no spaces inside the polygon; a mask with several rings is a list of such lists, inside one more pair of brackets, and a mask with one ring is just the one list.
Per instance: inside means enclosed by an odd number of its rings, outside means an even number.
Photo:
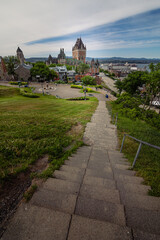
[{"label": "narrow grassy slope right of the stairway, around the metal handrail", "polygon": [[[112,104],[112,111],[118,111],[114,104]],[[142,141],[160,146],[160,131],[142,120],[131,120],[119,114],[117,128],[120,145],[124,133],[128,133]],[[134,160],[138,146],[139,144],[136,141],[126,137],[123,153],[131,163]],[[149,194],[160,197],[160,151],[142,145],[135,170],[138,171],[137,174],[139,176],[144,178],[145,184],[151,186]]]}]

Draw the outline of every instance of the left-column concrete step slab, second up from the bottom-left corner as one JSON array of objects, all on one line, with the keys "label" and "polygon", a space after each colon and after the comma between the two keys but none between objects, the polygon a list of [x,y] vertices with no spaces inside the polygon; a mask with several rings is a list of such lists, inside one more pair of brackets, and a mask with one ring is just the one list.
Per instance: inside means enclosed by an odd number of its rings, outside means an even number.
[{"label": "left-column concrete step slab, second up from the bottom-left corner", "polygon": [[43,188],[33,195],[30,203],[39,207],[72,214],[75,209],[76,199],[76,195]]}]

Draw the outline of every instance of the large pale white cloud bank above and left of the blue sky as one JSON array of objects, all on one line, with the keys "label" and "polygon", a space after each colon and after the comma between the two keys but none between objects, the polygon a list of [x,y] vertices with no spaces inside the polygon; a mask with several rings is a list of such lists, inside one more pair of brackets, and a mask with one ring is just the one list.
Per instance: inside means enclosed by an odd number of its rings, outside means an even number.
[{"label": "large pale white cloud bank above and left of the blue sky", "polygon": [[77,32],[159,7],[159,0],[0,0],[0,55],[15,54],[17,45],[27,56],[46,55],[63,46],[69,51],[72,42],[25,47],[23,43]]}]

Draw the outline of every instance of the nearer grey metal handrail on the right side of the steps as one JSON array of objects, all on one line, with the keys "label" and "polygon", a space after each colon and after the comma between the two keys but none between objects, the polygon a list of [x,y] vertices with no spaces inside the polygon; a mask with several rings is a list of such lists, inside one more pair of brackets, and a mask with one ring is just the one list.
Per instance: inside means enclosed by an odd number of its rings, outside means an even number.
[{"label": "nearer grey metal handrail on the right side of the steps", "polygon": [[137,153],[136,153],[136,156],[135,156],[135,158],[134,158],[133,164],[132,164],[132,168],[134,168],[134,166],[135,166],[135,164],[136,164],[136,160],[137,160],[138,155],[139,155],[139,153],[140,153],[140,150],[141,150],[142,144],[160,150],[160,147],[158,147],[158,146],[156,146],[156,145],[153,145],[153,144],[150,144],[150,143],[144,142],[144,141],[142,141],[142,140],[139,140],[139,139],[137,139],[137,138],[135,138],[135,137],[130,136],[129,134],[124,134],[124,136],[123,136],[123,140],[122,140],[122,145],[121,145],[121,150],[120,150],[120,152],[122,152],[123,145],[124,145],[124,140],[125,140],[125,137],[126,137],[126,136],[128,136],[128,137],[130,137],[130,138],[132,138],[132,139],[134,139],[135,141],[137,141],[137,142],[140,143],[140,144],[139,144],[139,147],[138,147],[138,150],[137,150]]}]

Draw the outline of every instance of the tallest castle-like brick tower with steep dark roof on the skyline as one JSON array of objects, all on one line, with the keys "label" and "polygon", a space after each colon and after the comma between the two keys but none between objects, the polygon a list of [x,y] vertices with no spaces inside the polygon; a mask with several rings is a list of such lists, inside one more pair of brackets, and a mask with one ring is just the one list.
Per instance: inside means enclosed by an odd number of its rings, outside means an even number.
[{"label": "tallest castle-like brick tower with steep dark roof on the skyline", "polygon": [[72,57],[84,63],[86,61],[86,46],[84,46],[81,38],[77,38],[77,41],[72,48]]}]

